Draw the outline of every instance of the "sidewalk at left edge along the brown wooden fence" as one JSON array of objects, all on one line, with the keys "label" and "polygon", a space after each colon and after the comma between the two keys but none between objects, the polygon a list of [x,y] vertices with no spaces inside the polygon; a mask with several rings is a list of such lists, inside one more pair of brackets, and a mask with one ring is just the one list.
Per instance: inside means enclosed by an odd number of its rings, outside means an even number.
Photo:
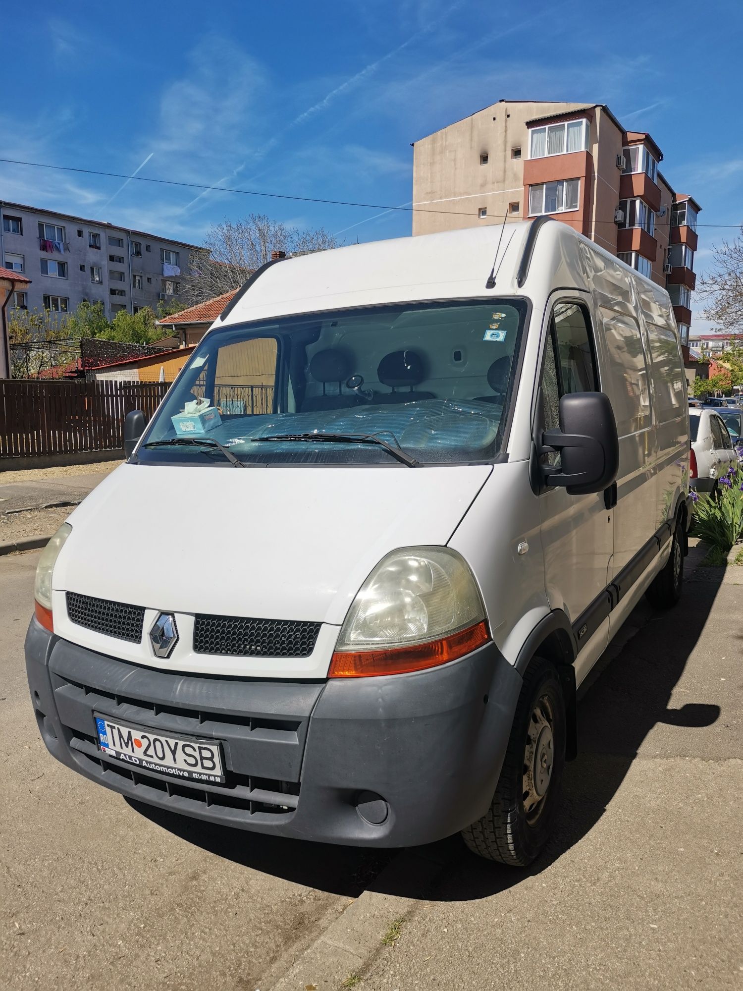
[{"label": "sidewalk at left edge along the brown wooden fence", "polygon": [[74,506],[119,464],[103,461],[0,474],[0,546],[52,536]]}]

